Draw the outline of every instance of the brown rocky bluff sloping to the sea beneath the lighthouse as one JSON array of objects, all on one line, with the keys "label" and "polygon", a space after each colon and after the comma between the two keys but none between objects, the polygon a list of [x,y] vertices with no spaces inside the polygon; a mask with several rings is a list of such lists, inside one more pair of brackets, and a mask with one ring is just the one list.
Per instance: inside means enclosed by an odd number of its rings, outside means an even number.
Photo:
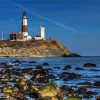
[{"label": "brown rocky bluff sloping to the sea beneath the lighthouse", "polygon": [[78,56],[56,40],[0,41],[0,57]]}]

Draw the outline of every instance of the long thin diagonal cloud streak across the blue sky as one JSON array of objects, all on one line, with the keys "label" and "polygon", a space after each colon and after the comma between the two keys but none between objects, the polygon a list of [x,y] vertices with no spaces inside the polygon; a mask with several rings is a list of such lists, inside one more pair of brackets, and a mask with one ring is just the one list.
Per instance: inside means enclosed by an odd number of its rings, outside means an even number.
[{"label": "long thin diagonal cloud streak across the blue sky", "polygon": [[64,25],[64,24],[62,24],[62,23],[60,23],[60,22],[54,21],[54,20],[52,20],[52,19],[50,19],[50,18],[47,18],[47,17],[44,17],[44,16],[42,16],[42,15],[39,15],[38,13],[32,11],[31,9],[26,8],[26,7],[24,7],[24,6],[22,6],[22,5],[18,4],[18,3],[12,2],[11,0],[8,0],[8,1],[9,1],[10,3],[12,3],[14,6],[16,6],[16,7],[20,8],[20,9],[23,9],[23,10],[25,10],[25,11],[28,11],[28,12],[30,12],[32,15],[34,15],[34,16],[36,16],[36,17],[42,19],[42,20],[48,21],[48,22],[50,22],[50,23],[53,23],[53,24],[55,24],[55,25],[57,25],[57,26],[59,26],[59,27],[61,27],[61,28],[63,28],[63,29],[66,29],[66,30],[69,30],[69,31],[72,31],[72,32],[75,32],[75,33],[80,33],[77,29],[74,29],[74,28],[69,27],[69,26],[66,26],[66,25]]}]

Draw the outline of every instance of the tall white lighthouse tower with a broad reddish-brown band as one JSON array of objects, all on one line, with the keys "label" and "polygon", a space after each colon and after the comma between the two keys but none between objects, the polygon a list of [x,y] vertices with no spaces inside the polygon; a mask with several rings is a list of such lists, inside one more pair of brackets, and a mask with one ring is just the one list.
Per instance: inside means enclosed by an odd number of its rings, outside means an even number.
[{"label": "tall white lighthouse tower with a broad reddish-brown band", "polygon": [[27,24],[26,12],[24,12],[23,16],[22,16],[22,34],[23,34],[24,40],[27,40],[27,37],[28,37],[28,24]]}]

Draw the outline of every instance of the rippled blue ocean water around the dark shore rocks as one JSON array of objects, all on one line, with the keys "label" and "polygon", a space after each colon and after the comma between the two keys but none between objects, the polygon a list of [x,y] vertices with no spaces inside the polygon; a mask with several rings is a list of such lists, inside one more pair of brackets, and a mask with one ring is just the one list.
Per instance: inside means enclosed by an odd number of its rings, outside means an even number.
[{"label": "rippled blue ocean water around the dark shore rocks", "polygon": [[[49,65],[44,66],[44,68],[51,68],[50,73],[57,76],[56,79],[51,80],[57,83],[58,86],[68,85],[73,88],[78,88],[80,82],[91,82],[100,81],[100,57],[57,57],[57,58],[0,58],[0,62],[10,62],[20,60],[23,61],[22,64],[18,65],[17,68],[35,68],[36,65],[42,65],[47,62]],[[29,63],[30,61],[36,61],[37,63]],[[85,63],[95,63],[96,67],[84,67]],[[66,65],[71,65],[71,69],[63,70]],[[15,66],[16,67],[16,66]],[[83,68],[84,70],[75,70],[76,67]],[[73,79],[69,81],[63,81],[58,77],[59,74],[63,72],[73,72],[76,74],[81,74],[84,77],[79,79]],[[100,95],[100,88],[88,88],[90,91],[97,92]],[[96,95],[94,95],[95,97]],[[95,100],[95,98],[83,99],[83,100]]]}]

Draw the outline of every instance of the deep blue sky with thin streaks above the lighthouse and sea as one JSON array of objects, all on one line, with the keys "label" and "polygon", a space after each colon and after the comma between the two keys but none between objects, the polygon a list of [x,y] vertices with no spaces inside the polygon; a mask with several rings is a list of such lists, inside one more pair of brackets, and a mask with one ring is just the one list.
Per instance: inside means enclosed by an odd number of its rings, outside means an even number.
[{"label": "deep blue sky with thin streaks above the lighthouse and sea", "polygon": [[82,56],[100,56],[100,0],[0,0],[0,39],[21,31],[22,13],[31,36],[46,28],[46,37]]}]

